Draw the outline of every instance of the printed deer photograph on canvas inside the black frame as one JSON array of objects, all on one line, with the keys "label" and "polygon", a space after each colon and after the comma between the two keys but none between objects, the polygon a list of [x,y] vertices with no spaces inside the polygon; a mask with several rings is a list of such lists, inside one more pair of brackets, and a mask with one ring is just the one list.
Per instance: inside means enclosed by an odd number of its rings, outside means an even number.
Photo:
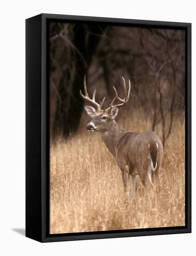
[{"label": "printed deer photograph on canvas inside the black frame", "polygon": [[50,234],[185,225],[185,31],[50,22]]}]

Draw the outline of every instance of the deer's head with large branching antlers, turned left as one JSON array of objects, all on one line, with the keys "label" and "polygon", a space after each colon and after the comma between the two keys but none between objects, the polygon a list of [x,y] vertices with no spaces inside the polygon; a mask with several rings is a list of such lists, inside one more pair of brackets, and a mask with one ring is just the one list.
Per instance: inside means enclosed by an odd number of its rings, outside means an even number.
[{"label": "deer's head with large branching antlers, turned left", "polygon": [[[126,82],[125,79],[122,77],[123,85],[124,85],[124,99],[120,99],[120,97],[117,94],[116,89],[114,88],[115,97],[113,101],[111,102],[110,106],[106,109],[101,109],[103,107],[103,103],[106,99],[106,97],[103,98],[103,100],[99,103],[95,101],[95,94],[96,90],[93,93],[92,99],[89,98],[88,92],[87,92],[87,86],[86,86],[86,75],[84,76],[84,93],[82,94],[82,91],[80,90],[80,95],[85,101],[89,101],[91,104],[93,104],[95,108],[91,106],[84,106],[87,114],[92,118],[92,120],[87,125],[87,130],[89,131],[100,131],[100,132],[106,132],[109,130],[109,128],[112,125],[112,121],[116,118],[119,112],[119,108],[124,106],[129,101],[130,91],[131,91],[131,83],[129,80],[129,89],[128,94],[126,92]],[[119,104],[114,105],[114,101],[118,100],[120,101]]]}]

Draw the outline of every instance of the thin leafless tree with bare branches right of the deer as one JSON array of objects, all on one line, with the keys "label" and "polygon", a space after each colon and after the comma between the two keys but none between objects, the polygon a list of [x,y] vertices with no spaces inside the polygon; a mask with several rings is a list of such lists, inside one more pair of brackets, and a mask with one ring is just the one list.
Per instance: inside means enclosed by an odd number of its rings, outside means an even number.
[{"label": "thin leafless tree with bare branches right of the deer", "polygon": [[[160,48],[156,50],[155,42],[144,40],[144,35],[141,29],[139,29],[139,38],[141,45],[141,56],[149,67],[154,84],[154,92],[158,93],[158,101],[154,99],[154,114],[152,120],[152,130],[155,130],[156,125],[162,122],[162,141],[163,145],[171,134],[171,128],[173,124],[173,113],[176,107],[176,76],[178,62],[181,61],[183,55],[183,44],[181,41],[181,32],[172,30],[156,31],[153,33],[162,36],[162,43],[159,47],[162,47],[162,54],[160,58]],[[158,45],[158,43],[156,43]],[[149,48],[153,47],[153,51]],[[164,104],[164,85],[169,83],[170,87],[170,102]],[[167,107],[166,107],[167,106]],[[159,117],[160,114],[160,117]],[[165,117],[170,115],[168,129],[166,130]]]}]

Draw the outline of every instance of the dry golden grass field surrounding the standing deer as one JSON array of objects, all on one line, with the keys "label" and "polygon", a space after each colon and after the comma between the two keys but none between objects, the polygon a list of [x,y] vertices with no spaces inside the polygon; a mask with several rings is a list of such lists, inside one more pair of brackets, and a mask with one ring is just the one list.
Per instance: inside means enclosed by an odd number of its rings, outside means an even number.
[{"label": "dry golden grass field surrounding the standing deer", "polygon": [[[165,144],[156,196],[147,196],[138,181],[134,207],[132,197],[125,199],[114,157],[98,133],[85,130],[84,119],[76,135],[51,143],[51,234],[184,226],[184,121],[175,120]],[[137,114],[117,122],[127,130],[151,129],[150,120]]]}]

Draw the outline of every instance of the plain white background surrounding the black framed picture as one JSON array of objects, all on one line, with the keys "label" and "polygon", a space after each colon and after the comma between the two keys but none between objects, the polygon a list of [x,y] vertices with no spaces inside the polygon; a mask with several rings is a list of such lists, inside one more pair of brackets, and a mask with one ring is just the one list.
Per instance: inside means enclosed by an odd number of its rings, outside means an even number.
[{"label": "plain white background surrounding the black framed picture", "polygon": [[[196,181],[192,164],[192,234],[41,244],[25,228],[25,19],[39,13],[192,22],[192,113],[196,130],[196,15],[192,0],[32,0],[0,4],[0,254],[195,255]],[[193,134],[193,159],[196,136]],[[24,231],[22,231],[24,232]]]}]

